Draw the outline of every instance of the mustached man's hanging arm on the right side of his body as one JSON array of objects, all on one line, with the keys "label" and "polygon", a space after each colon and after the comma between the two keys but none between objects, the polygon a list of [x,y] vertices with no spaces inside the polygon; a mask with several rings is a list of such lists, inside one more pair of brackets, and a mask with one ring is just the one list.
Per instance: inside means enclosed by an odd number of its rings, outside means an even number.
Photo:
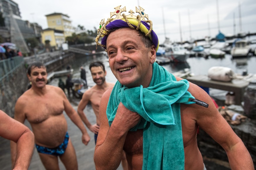
[{"label": "mustached man's hanging arm on the right side of his body", "polygon": [[61,93],[61,95],[63,96],[63,100],[64,100],[64,110],[67,113],[68,117],[72,120],[72,122],[80,129],[80,131],[82,132],[82,142],[87,145],[90,141],[90,136],[87,133],[86,128],[84,127],[84,124],[82,122],[82,120],[80,119],[79,115],[77,114],[77,112],[74,110],[74,108],[72,107],[72,105],[69,103],[67,96],[65,95],[65,93],[61,90],[58,89]]}]

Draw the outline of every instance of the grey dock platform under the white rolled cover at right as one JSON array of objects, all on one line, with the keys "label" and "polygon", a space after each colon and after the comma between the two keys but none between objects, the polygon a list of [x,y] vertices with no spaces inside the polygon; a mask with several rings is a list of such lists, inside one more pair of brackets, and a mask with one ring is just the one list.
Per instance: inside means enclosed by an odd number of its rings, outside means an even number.
[{"label": "grey dock platform under the white rolled cover at right", "polygon": [[241,102],[243,101],[243,94],[245,92],[245,88],[249,85],[248,81],[243,81],[240,79],[233,79],[231,82],[224,82],[211,80],[210,78],[204,75],[187,77],[186,79],[198,86],[234,92],[236,105],[241,105]]}]

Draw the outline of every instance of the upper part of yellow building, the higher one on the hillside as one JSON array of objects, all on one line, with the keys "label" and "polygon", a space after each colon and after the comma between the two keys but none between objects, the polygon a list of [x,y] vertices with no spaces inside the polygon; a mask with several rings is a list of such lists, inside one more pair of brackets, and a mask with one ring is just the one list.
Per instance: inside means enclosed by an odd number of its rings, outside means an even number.
[{"label": "upper part of yellow building, the higher one on the hillside", "polygon": [[72,36],[74,30],[68,15],[52,13],[45,16],[47,18],[48,28],[64,31],[64,37]]}]

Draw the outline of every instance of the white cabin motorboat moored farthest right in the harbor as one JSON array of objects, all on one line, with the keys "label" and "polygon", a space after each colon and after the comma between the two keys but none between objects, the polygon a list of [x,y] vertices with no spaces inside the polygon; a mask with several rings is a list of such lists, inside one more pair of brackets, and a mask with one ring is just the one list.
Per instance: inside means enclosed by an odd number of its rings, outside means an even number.
[{"label": "white cabin motorboat moored farthest right in the harbor", "polygon": [[233,58],[247,57],[250,52],[250,45],[247,40],[240,39],[234,42],[230,54]]}]

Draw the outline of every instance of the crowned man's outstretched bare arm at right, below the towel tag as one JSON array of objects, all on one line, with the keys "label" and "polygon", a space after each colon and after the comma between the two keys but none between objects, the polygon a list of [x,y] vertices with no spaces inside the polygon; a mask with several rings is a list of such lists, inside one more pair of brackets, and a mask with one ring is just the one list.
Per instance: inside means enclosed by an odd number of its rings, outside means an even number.
[{"label": "crowned man's outstretched bare arm at right, below the towel tag", "polygon": [[199,86],[192,83],[190,83],[188,91],[196,99],[209,104],[208,108],[196,104],[187,107],[191,109],[191,112],[194,112],[195,121],[200,128],[226,151],[231,169],[254,169],[252,158],[243,141],[218,112],[210,96]]}]

